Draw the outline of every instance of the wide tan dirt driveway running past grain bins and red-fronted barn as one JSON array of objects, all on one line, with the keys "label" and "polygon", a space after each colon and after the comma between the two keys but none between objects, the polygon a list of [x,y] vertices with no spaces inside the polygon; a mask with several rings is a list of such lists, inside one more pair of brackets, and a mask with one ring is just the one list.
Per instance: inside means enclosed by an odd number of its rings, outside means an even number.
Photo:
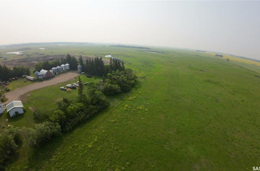
[{"label": "wide tan dirt driveway running past grain bins and red-fronted barn", "polygon": [[51,78],[49,80],[43,81],[43,82],[37,82],[31,85],[27,85],[25,87],[21,87],[18,89],[15,89],[13,91],[7,92],[6,93],[6,98],[8,98],[8,100],[5,102],[5,104],[9,104],[10,102],[12,102],[13,100],[20,100],[20,96],[23,95],[24,93],[28,93],[32,90],[35,89],[40,89],[49,85],[54,85],[60,82],[65,82],[68,80],[72,80],[75,79],[76,76],[78,76],[79,74],[77,73],[77,71],[69,71],[66,73],[61,74],[58,77],[55,78]]}]

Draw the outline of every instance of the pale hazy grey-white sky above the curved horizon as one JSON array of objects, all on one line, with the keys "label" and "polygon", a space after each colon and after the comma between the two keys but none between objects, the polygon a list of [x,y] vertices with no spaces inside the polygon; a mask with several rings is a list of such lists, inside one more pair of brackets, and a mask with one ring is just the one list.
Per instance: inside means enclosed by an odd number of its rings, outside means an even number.
[{"label": "pale hazy grey-white sky above the curved horizon", "polygon": [[0,1],[0,45],[107,42],[260,59],[260,1]]}]

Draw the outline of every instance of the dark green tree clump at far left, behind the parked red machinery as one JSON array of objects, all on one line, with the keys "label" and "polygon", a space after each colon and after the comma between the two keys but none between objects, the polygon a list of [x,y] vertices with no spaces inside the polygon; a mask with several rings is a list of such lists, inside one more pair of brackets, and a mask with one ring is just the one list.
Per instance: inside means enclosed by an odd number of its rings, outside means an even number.
[{"label": "dark green tree clump at far left, behind the parked red machinery", "polygon": [[0,64],[0,79],[2,81],[8,81],[9,78],[21,77],[22,75],[30,75],[30,67],[19,66],[11,69],[11,67]]}]

